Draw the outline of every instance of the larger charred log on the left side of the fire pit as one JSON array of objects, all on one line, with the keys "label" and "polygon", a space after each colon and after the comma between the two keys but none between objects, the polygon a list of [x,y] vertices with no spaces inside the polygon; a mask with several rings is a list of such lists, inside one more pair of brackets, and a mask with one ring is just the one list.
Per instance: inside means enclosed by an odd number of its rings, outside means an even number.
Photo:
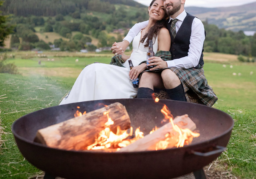
[{"label": "larger charred log on the left side of the fire pit", "polygon": [[87,146],[94,143],[99,132],[105,129],[108,117],[114,122],[110,125],[113,132],[117,130],[117,126],[120,126],[122,130],[131,127],[131,120],[125,106],[116,102],[82,116],[40,129],[37,131],[34,141],[53,148],[85,150]]}]

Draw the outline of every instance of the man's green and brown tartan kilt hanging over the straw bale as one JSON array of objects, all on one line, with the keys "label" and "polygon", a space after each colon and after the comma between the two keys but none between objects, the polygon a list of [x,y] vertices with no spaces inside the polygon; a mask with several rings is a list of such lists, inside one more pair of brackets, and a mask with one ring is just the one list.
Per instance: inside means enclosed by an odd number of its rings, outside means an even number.
[{"label": "man's green and brown tartan kilt hanging over the straw bale", "polygon": [[186,93],[187,101],[189,101],[190,98],[187,94],[188,92],[189,94],[193,93],[203,102],[203,104],[207,106],[213,106],[214,103],[218,100],[216,94],[213,92],[213,89],[207,83],[203,68],[168,68],[180,78]]}]

